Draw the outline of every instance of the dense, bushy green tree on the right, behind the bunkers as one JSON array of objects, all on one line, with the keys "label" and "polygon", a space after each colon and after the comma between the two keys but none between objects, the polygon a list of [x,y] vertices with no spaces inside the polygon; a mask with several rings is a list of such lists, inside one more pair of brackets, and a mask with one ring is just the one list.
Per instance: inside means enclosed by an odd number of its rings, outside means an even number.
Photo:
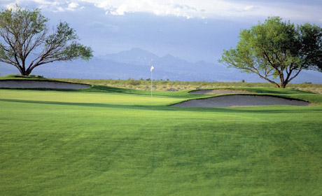
[{"label": "dense, bushy green tree on the right, behind the bunkers", "polygon": [[262,24],[241,30],[237,47],[224,50],[219,62],[256,73],[284,88],[303,69],[322,70],[322,29],[309,23],[295,27],[279,17],[267,18]]}]

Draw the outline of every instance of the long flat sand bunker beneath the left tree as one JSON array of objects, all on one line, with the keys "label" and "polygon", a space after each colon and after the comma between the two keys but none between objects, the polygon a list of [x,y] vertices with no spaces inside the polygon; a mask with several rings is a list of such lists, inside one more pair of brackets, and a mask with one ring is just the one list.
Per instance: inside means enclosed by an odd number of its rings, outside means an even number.
[{"label": "long flat sand bunker beneath the left tree", "polygon": [[60,89],[80,89],[92,87],[92,85],[80,83],[65,83],[58,81],[41,80],[0,80],[0,87],[30,87],[30,88],[60,88]]}]

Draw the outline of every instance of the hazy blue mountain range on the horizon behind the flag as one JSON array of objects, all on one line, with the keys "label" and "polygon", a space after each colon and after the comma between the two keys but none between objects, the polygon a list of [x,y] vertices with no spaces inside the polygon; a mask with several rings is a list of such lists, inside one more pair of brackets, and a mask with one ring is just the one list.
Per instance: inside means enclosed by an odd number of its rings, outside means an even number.
[{"label": "hazy blue mountain range on the horizon behind the flag", "polygon": [[[217,60],[214,59],[214,62]],[[159,57],[141,48],[132,48],[116,54],[93,57],[86,62],[76,59],[72,62],[54,62],[38,66],[31,74],[46,78],[88,78],[88,79],[153,79],[183,81],[241,81],[265,82],[255,74],[241,73],[223,64],[211,62],[188,62],[172,55]],[[0,64],[0,75],[19,73],[14,66]],[[322,73],[302,71],[293,83],[322,83]]]}]

